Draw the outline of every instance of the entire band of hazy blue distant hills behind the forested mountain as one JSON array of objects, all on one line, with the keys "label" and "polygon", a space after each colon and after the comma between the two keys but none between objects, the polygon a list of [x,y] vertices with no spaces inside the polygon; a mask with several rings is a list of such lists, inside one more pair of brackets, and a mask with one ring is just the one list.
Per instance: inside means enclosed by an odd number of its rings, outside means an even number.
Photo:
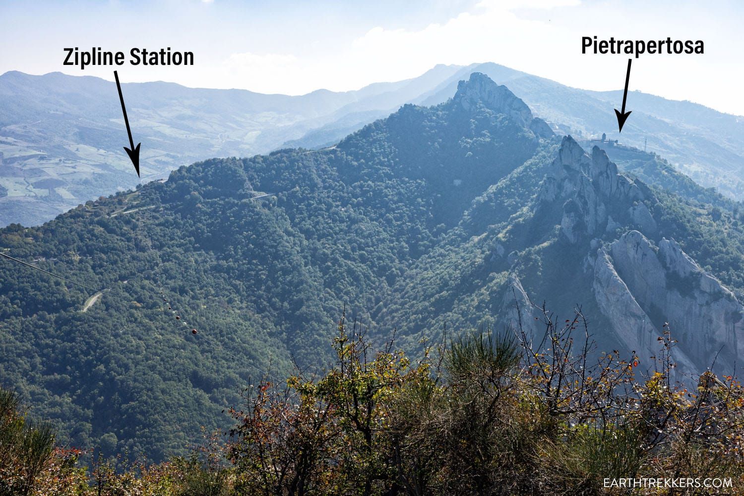
[{"label": "entire band of hazy blue distant hills behind the forested mountain", "polygon": [[[313,91],[298,97],[245,90],[124,83],[144,181],[216,156],[250,156],[286,146],[333,144],[404,103],[433,105],[459,80],[480,71],[504,83],[561,132],[606,132],[667,158],[699,184],[744,198],[744,123],[689,102],[632,92],[632,117],[616,132],[618,91],[569,88],[492,63],[437,65],[420,77],[359,91]],[[60,73],[0,76],[0,225],[38,225],[77,204],[133,187],[122,149],[126,130],[114,83]],[[620,167],[623,161],[618,160]]]}]

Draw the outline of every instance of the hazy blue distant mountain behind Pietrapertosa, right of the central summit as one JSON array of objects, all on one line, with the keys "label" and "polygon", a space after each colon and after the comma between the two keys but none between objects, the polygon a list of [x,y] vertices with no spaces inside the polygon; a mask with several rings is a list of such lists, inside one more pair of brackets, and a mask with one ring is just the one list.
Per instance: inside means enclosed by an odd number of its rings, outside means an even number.
[{"label": "hazy blue distant mountain behind Pietrapertosa, right of the central summit", "polygon": [[[587,91],[556,83],[491,62],[472,64],[443,79],[412,103],[436,105],[455,92],[458,81],[473,71],[486,74],[506,85],[530,106],[535,115],[575,137],[598,137],[605,132],[610,139],[656,152],[705,187],[716,187],[725,196],[744,199],[744,119],[736,115],[687,101],[666,100],[652,94],[631,91],[629,109],[633,117],[618,132],[613,109],[623,99],[622,91]],[[632,88],[631,88],[632,89]],[[383,109],[376,116],[381,116]],[[338,112],[337,112],[338,113]],[[369,115],[344,113],[344,117],[312,129],[304,138],[292,141],[300,146],[318,146],[335,141],[362,126]],[[624,160],[618,160],[620,168]]]}]

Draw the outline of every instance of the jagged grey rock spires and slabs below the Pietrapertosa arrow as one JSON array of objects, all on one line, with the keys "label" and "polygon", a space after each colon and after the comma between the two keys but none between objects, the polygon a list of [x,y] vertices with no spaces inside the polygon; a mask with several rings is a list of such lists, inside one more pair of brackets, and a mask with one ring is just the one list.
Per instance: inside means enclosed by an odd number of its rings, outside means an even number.
[{"label": "jagged grey rock spires and slabs below the Pietrapertosa arrow", "polygon": [[[679,373],[699,374],[713,362],[719,373],[733,373],[744,354],[744,307],[679,243],[661,236],[657,210],[645,184],[618,173],[602,149],[595,146],[589,155],[569,136],[536,202],[536,217],[559,220],[560,249],[586,254],[580,270],[626,351],[651,365],[668,323],[679,341],[673,350]],[[516,275],[507,286],[504,316],[514,325],[512,307],[516,301],[524,307],[528,297]],[[523,323],[534,320],[524,317]]]}]

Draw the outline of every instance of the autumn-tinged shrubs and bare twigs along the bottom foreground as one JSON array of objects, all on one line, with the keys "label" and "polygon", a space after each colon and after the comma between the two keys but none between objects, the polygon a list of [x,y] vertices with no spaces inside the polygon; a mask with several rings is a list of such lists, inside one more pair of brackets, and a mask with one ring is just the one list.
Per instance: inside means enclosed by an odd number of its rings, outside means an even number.
[{"label": "autumn-tinged shrubs and bare twigs along the bottom foreground", "polygon": [[[74,468],[74,452],[54,449],[53,434],[25,424],[3,393],[2,494],[744,494],[744,390],[734,378],[704,373],[687,390],[668,329],[641,367],[637,356],[595,353],[580,312],[561,324],[542,315],[544,336],[478,332],[415,361],[341,320],[327,373],[298,371],[283,385],[266,377],[231,410],[225,442],[124,471]],[[46,442],[28,442],[39,436]],[[623,477],[733,487],[605,487]]]}]

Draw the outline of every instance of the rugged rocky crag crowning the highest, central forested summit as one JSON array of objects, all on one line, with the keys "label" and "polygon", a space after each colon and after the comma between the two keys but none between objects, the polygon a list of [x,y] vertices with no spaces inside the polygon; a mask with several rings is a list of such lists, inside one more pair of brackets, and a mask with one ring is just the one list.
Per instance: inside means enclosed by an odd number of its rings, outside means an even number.
[{"label": "rugged rocky crag crowning the highest, central forested summit", "polygon": [[496,84],[486,74],[473,72],[469,80],[458,83],[458,91],[453,99],[455,103],[470,111],[483,104],[498,114],[504,114],[539,138],[549,138],[553,135],[550,126],[544,120],[533,117],[530,107],[509,88]]}]

